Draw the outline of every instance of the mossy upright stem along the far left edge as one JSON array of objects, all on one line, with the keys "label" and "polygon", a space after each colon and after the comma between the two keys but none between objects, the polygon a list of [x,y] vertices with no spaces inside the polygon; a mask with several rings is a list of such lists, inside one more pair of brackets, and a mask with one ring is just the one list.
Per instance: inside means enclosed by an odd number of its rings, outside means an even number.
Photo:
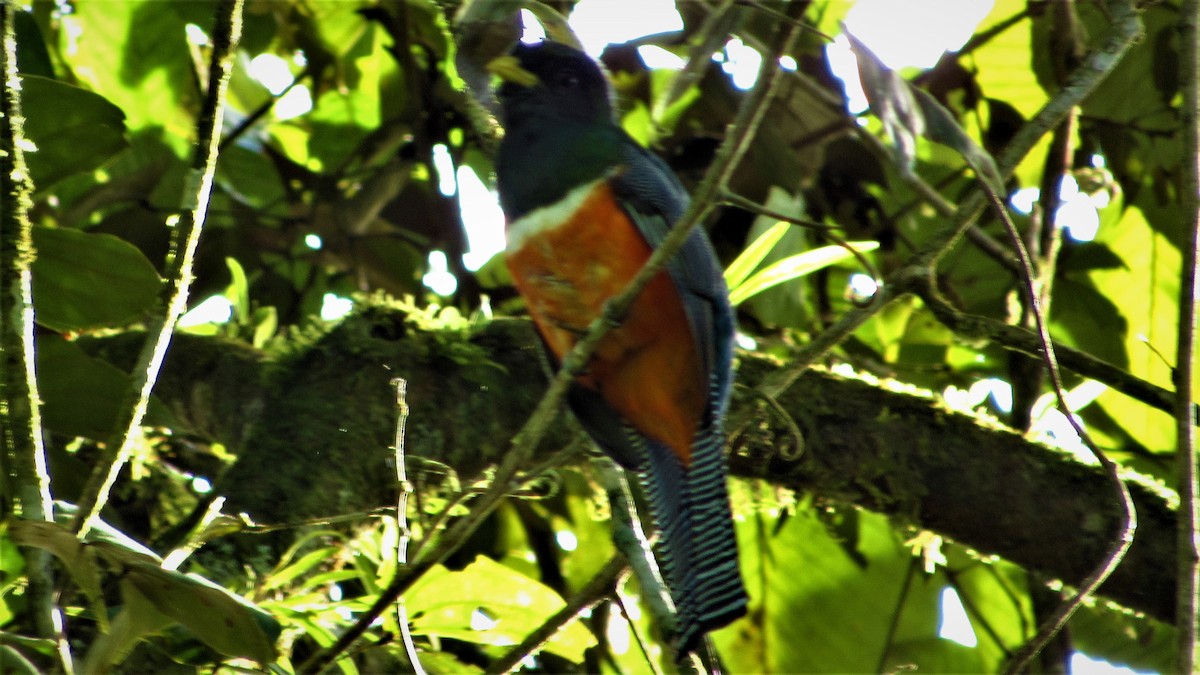
[{"label": "mossy upright stem along the far left edge", "polygon": [[[50,476],[42,435],[41,396],[34,371],[34,228],[29,220],[34,181],[23,151],[24,123],[17,74],[17,5],[0,2],[0,453],[2,492],[17,515],[54,520]],[[4,513],[2,515],[8,515]],[[24,549],[26,607],[38,637],[55,639],[59,662],[71,671],[71,651],[54,607],[50,554]],[[56,616],[58,615],[58,616]]]}]

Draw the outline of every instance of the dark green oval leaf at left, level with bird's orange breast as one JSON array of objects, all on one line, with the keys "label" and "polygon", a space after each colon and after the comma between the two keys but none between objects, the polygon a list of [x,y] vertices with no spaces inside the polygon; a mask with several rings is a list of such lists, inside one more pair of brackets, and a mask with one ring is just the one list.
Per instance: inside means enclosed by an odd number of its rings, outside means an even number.
[{"label": "dark green oval leaf at left, level with bird's orange breast", "polygon": [[136,246],[110,234],[35,227],[34,309],[60,331],[124,325],[140,318],[161,280]]}]

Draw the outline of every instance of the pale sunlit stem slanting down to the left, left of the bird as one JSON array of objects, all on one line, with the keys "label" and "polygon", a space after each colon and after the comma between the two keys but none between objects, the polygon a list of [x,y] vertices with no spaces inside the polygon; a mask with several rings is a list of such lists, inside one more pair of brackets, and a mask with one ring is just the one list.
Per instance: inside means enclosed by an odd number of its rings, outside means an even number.
[{"label": "pale sunlit stem slanting down to the left, left of the bird", "polygon": [[222,0],[217,5],[208,90],[197,121],[197,145],[185,183],[184,209],[179,221],[172,223],[174,227],[170,252],[167,255],[167,283],[158,300],[161,313],[148,322],[146,341],[130,376],[130,398],[126,405],[121,406],[122,416],[79,497],[72,528],[80,538],[100,515],[116,474],[140,437],[142,419],[145,417],[150,392],[167,356],[175,322],[187,309],[187,292],[193,277],[192,264],[196,261],[200,233],[204,231],[209,196],[212,192],[212,177],[216,173],[217,142],[221,137],[226,89],[229,84],[229,73],[233,71],[233,55],[241,36],[241,10],[242,0]]}]

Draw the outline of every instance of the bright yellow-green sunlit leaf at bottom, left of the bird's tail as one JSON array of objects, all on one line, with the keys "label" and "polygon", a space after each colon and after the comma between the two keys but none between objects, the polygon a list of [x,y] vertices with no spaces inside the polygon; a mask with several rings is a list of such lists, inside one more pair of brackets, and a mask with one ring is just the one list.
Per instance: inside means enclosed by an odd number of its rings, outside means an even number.
[{"label": "bright yellow-green sunlit leaf at bottom, left of the bird's tail", "polygon": [[[404,599],[414,633],[484,645],[515,645],[565,604],[546,585],[485,556],[460,572],[436,568]],[[476,611],[491,620],[490,626],[480,627],[478,620],[473,625]],[[580,663],[594,644],[592,634],[575,622],[559,631],[546,650]]]}]

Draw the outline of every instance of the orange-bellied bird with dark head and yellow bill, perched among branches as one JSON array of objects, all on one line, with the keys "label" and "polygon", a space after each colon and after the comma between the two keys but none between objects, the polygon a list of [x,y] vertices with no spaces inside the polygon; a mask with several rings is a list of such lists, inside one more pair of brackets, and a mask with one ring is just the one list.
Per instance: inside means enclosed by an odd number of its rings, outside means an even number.
[{"label": "orange-bellied bird with dark head and yellow bill, perched among branches", "polygon": [[[614,120],[590,56],[518,43],[488,64],[504,137],[496,156],[505,262],[556,364],[666,238],[689,204],[662,160]],[[595,443],[637,476],[658,532],[677,655],[743,616],[722,419],[734,317],[703,229],[604,336],[568,406]]]}]

